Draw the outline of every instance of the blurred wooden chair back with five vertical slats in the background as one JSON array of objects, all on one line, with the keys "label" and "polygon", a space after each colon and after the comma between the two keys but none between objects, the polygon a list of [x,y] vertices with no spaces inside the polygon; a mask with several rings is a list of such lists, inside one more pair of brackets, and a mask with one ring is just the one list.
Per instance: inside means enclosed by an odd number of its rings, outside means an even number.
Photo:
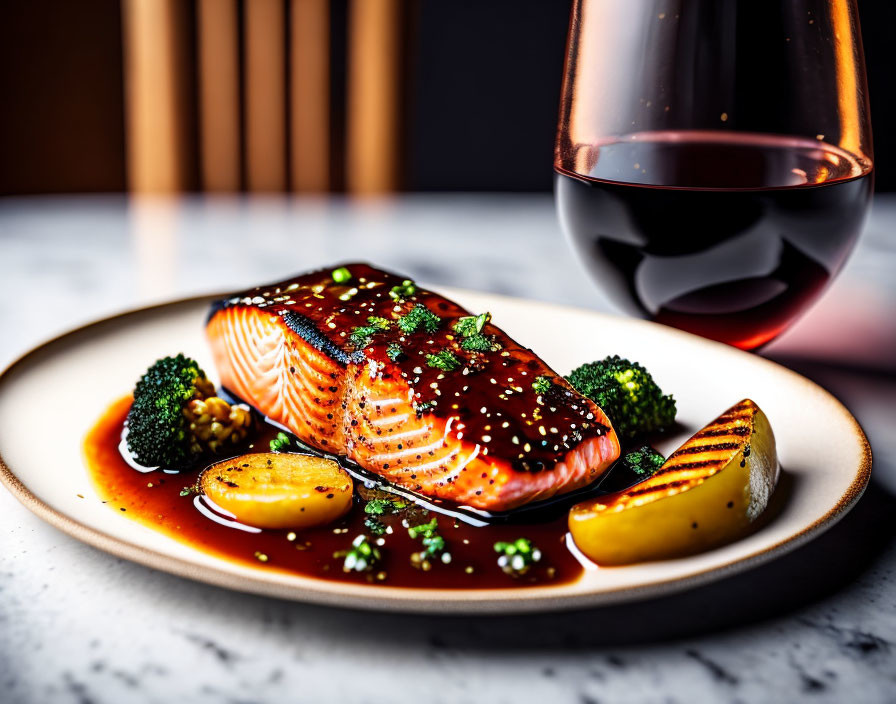
[{"label": "blurred wooden chair back with five vertical slats in the background", "polygon": [[133,192],[197,182],[208,191],[325,192],[338,154],[348,193],[399,187],[405,0],[349,0],[344,126],[331,114],[334,86],[342,88],[331,71],[331,0],[192,8],[122,2]]}]

